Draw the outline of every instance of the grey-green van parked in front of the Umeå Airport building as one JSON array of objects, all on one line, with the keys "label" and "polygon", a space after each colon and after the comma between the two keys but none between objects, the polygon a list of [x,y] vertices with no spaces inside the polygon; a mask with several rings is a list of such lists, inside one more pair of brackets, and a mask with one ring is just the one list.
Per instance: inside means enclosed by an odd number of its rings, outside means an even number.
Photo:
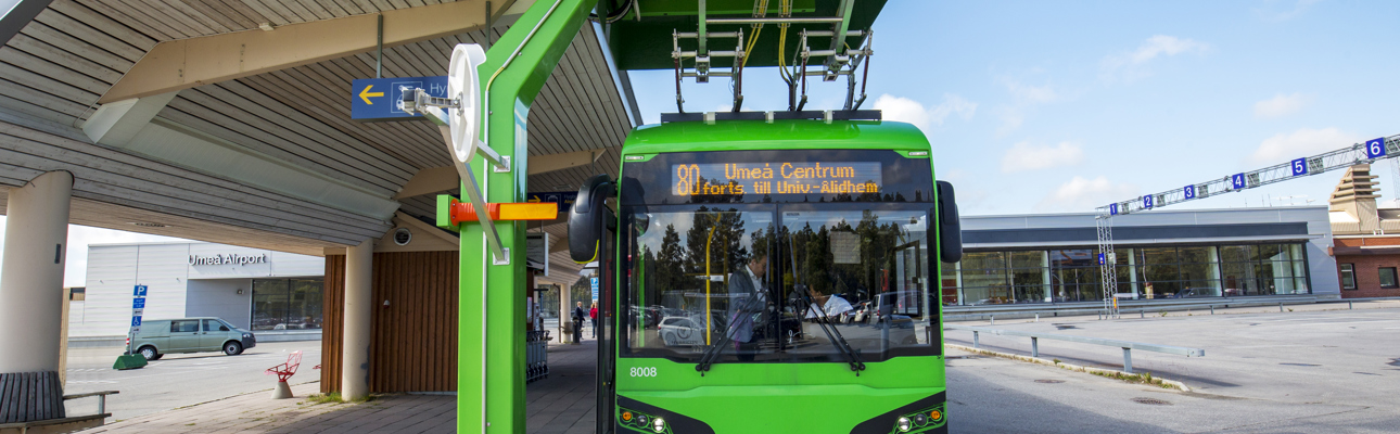
[{"label": "grey-green van parked in front of the Ume\u00e5 Airport building", "polygon": [[258,346],[252,332],[218,318],[148,319],[130,336],[132,349],[146,360],[160,360],[174,353],[224,351],[242,354]]}]

